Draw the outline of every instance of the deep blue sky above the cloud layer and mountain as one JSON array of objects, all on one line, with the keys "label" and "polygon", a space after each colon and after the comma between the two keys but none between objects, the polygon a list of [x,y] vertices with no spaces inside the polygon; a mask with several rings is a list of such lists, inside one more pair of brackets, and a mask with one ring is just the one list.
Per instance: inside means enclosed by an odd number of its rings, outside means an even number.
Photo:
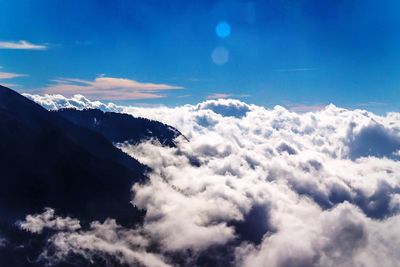
[{"label": "deep blue sky above the cloud layer and mountain", "polygon": [[0,0],[0,83],[137,104],[399,111],[398,14],[396,0]]}]

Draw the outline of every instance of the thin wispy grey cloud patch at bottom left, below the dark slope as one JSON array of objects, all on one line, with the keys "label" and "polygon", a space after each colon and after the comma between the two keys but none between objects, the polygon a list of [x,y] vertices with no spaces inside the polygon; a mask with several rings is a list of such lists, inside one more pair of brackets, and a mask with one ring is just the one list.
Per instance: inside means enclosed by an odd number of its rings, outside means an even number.
[{"label": "thin wispy grey cloud patch at bottom left, below the dark slope", "polygon": [[19,226],[36,234],[41,233],[44,228],[56,231],[48,239],[47,248],[38,259],[50,265],[63,262],[69,255],[75,254],[89,261],[94,257],[111,257],[119,263],[134,266],[170,266],[161,255],[146,251],[150,245],[149,240],[139,231],[125,229],[112,219],[107,219],[104,223],[92,222],[89,229],[80,230],[77,219],[61,218],[55,216],[54,210],[46,209],[42,214],[28,215]]}]

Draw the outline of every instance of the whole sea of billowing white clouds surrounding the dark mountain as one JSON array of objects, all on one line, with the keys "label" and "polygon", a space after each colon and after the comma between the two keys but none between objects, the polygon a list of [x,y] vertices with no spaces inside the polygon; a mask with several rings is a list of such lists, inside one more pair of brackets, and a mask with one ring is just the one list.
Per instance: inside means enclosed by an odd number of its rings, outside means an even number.
[{"label": "whole sea of billowing white clouds surrounding the dark mountain", "polygon": [[201,265],[204,255],[220,266],[400,265],[400,113],[334,105],[295,113],[231,99],[150,108],[25,96],[48,109],[158,120],[187,138],[176,148],[117,144],[152,168],[147,183],[132,187],[133,205],[147,210],[140,227],[110,218],[82,230],[52,209],[28,215],[21,228],[55,230],[49,247],[56,253],[41,255],[49,262],[75,253],[145,266]]}]

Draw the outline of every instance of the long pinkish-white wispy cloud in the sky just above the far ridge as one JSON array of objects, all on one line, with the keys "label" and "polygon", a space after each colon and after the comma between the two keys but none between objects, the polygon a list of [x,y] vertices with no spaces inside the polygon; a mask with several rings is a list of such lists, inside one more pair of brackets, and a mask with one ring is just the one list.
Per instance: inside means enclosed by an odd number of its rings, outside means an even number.
[{"label": "long pinkish-white wispy cloud in the sky just above the far ridge", "polygon": [[162,98],[162,91],[183,89],[182,86],[145,83],[125,78],[97,77],[93,81],[61,78],[43,88],[46,94],[73,96],[81,94],[96,100],[134,100]]}]

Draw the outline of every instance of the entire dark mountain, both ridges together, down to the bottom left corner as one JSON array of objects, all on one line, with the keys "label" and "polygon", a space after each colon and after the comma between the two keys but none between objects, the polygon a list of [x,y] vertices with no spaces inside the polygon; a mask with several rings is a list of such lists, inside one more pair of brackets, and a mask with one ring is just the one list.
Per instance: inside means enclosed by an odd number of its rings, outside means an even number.
[{"label": "entire dark mountain, both ridges together, down to the bottom left corner", "polygon": [[[0,86],[0,266],[41,267],[52,253],[53,230],[34,234],[16,222],[45,207],[89,222],[114,218],[134,227],[145,211],[134,207],[131,188],[146,181],[149,168],[113,143],[155,139],[175,146],[181,134],[160,122],[100,110],[47,111]],[[53,231],[53,232],[52,232]],[[126,266],[111,257],[71,254],[51,266]]]}]

